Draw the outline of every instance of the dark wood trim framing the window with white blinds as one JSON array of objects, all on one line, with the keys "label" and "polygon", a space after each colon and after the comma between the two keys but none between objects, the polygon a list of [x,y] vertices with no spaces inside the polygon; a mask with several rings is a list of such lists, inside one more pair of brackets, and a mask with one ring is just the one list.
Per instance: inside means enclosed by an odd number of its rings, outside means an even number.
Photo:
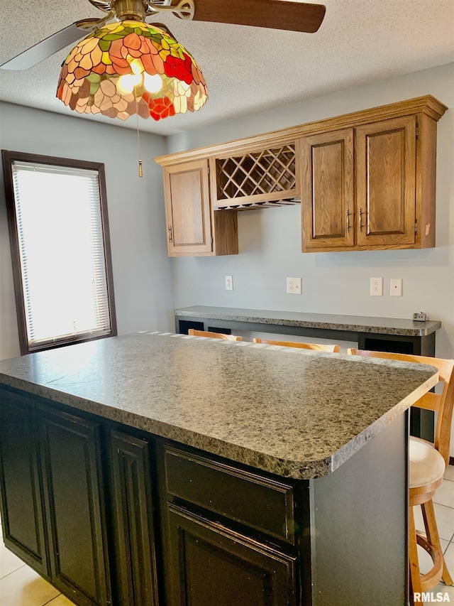
[{"label": "dark wood trim framing the window with white blinds", "polygon": [[8,217],[9,225],[9,239],[11,244],[11,260],[13,265],[13,281],[14,281],[14,293],[16,297],[16,313],[18,320],[18,334],[19,334],[19,345],[21,347],[21,355],[25,355],[31,352],[28,345],[27,329],[26,329],[26,306],[24,303],[24,292],[21,275],[21,262],[20,262],[20,251],[19,251],[19,240],[18,230],[16,221],[16,209],[14,203],[14,192],[13,192],[13,174],[12,174],[12,163],[13,161],[24,161],[30,163],[48,164],[50,166],[63,166],[67,168],[81,168],[90,171],[97,171],[99,175],[99,198],[101,206],[101,220],[103,227],[103,239],[104,239],[104,258],[106,264],[106,285],[107,285],[107,298],[109,301],[110,311],[110,325],[111,330],[109,334],[95,337],[87,337],[86,335],[68,337],[65,340],[58,342],[52,342],[51,344],[45,344],[42,347],[33,347],[33,352],[39,350],[49,350],[55,347],[63,347],[65,345],[72,345],[75,342],[83,342],[89,340],[95,340],[105,337],[113,337],[117,334],[116,328],[116,310],[114,300],[114,277],[112,271],[112,260],[111,260],[111,243],[109,236],[109,217],[107,213],[107,192],[106,192],[106,175],[104,171],[104,164],[99,162],[90,162],[83,160],[73,160],[71,158],[56,158],[54,156],[40,156],[34,153],[23,153],[19,151],[1,151],[3,158],[3,170],[4,170],[4,184],[6,194],[6,212]]}]

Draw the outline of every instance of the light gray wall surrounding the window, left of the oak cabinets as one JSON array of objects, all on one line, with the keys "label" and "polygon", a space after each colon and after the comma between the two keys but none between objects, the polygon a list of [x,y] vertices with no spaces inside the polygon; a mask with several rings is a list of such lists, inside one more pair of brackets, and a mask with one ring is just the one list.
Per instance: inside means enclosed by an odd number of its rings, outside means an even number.
[{"label": "light gray wall surrounding the window, left of the oak cabinets", "polygon": [[[138,178],[134,130],[0,104],[0,147],[103,162],[114,269],[118,334],[172,328],[172,269],[167,257],[162,170],[151,160],[165,139],[142,133]],[[0,359],[20,354],[11,254],[0,168]]]}]

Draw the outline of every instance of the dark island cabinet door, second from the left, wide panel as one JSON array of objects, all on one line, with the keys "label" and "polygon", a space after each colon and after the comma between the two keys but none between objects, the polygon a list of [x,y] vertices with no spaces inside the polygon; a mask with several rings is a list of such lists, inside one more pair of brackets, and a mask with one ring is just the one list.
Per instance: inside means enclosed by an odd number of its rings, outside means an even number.
[{"label": "dark island cabinet door, second from the left, wide panel", "polygon": [[79,606],[106,606],[110,590],[98,425],[45,407],[38,413],[52,584]]}]

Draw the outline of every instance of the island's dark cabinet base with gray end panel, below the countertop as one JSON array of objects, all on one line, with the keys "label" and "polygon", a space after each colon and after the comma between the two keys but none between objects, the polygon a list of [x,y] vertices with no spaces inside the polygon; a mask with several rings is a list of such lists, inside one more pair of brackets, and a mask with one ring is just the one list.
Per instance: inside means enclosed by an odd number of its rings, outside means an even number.
[{"label": "island's dark cabinet base with gray end panel, below the countertop", "polygon": [[399,416],[290,480],[0,386],[4,542],[78,606],[404,606]]}]

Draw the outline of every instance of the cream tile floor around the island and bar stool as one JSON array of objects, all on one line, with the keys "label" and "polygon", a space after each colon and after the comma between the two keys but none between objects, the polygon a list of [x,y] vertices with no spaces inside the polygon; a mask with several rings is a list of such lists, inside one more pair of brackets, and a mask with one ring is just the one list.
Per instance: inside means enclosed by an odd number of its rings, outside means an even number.
[{"label": "cream tile floor around the island and bar stool", "polygon": [[[445,472],[443,485],[438,489],[435,499],[435,512],[446,563],[451,575],[454,575],[454,466]],[[416,527],[421,526],[422,516],[416,514]],[[1,531],[1,526],[0,526]],[[431,559],[421,550],[421,568],[430,567]],[[448,593],[450,603],[454,604],[454,587],[440,583],[433,593]],[[446,602],[447,600],[445,600]],[[8,551],[0,542],[0,605],[1,606],[74,606],[73,602],[54,589],[19,558]]]}]

